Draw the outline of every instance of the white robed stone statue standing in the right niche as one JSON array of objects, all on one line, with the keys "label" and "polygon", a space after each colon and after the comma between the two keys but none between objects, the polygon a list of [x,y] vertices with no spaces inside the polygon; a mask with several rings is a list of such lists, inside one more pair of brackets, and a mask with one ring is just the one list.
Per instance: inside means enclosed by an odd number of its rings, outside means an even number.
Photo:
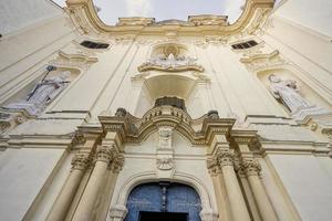
[{"label": "white robed stone statue standing in the right niche", "polygon": [[281,80],[278,75],[269,75],[270,92],[282,102],[293,114],[301,108],[310,107],[299,93],[297,82],[293,80]]}]

